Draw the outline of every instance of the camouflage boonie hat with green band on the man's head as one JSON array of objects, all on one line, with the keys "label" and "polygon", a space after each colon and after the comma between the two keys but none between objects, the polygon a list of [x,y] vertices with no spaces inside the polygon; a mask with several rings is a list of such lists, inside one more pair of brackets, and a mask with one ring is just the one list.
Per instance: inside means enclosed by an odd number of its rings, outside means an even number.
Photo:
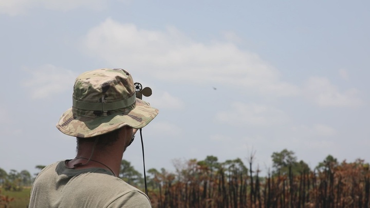
[{"label": "camouflage boonie hat with green band on the man's head", "polygon": [[158,114],[158,109],[136,98],[131,74],[123,69],[82,73],[73,86],[72,100],[57,128],[75,137],[94,137],[126,125],[142,128]]}]

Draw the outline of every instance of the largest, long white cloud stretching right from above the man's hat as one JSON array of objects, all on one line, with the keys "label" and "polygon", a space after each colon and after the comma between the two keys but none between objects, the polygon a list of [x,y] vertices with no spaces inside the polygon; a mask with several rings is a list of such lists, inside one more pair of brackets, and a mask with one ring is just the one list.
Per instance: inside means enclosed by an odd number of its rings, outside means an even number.
[{"label": "largest, long white cloud stretching right from above the man's hat", "polygon": [[275,96],[299,92],[257,54],[229,42],[200,43],[175,28],[145,30],[107,18],[83,39],[90,55],[161,80],[220,83]]}]

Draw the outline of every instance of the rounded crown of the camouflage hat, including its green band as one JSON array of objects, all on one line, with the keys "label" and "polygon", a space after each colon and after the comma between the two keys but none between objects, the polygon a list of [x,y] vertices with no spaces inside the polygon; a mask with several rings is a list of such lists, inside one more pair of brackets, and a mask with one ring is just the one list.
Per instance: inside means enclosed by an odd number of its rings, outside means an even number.
[{"label": "rounded crown of the camouflage hat, including its green band", "polygon": [[[124,69],[97,69],[79,75],[73,86],[73,111],[86,117],[135,104],[132,76]],[[132,106],[130,108],[133,108]]]}]

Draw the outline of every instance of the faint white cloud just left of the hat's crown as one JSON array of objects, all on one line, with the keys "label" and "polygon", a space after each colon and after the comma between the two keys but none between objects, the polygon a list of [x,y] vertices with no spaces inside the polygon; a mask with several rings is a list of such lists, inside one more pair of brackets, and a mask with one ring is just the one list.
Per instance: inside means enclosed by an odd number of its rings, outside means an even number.
[{"label": "faint white cloud just left of the hat's crown", "polygon": [[25,69],[30,77],[22,82],[33,99],[42,99],[52,94],[71,89],[77,75],[70,70],[53,65],[44,65],[38,69]]}]

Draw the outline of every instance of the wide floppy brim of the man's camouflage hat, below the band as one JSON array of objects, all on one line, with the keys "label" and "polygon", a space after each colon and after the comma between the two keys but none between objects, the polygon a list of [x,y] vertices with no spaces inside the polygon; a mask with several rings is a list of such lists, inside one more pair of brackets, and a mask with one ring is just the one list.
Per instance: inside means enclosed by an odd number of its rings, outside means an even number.
[{"label": "wide floppy brim of the man's camouflage hat, below the band", "polygon": [[69,108],[61,116],[57,128],[69,136],[88,138],[109,133],[123,126],[142,128],[149,124],[158,112],[158,109],[140,99],[137,99],[135,108],[127,113],[95,118],[73,115],[72,108]]}]

